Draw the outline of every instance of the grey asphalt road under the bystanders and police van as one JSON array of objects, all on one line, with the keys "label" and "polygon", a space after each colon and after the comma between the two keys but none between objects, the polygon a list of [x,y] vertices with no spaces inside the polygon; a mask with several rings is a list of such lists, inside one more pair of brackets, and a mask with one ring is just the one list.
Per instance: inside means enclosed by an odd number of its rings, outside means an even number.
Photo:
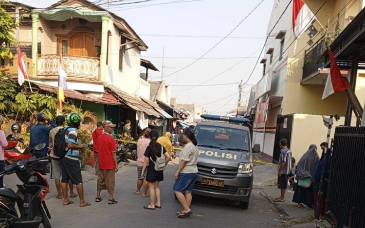
[{"label": "grey asphalt road under the bystanders and police van", "polygon": [[[95,203],[96,179],[84,184],[85,199],[91,206],[80,208],[78,198],[75,204],[63,206],[62,199],[49,198],[46,200],[51,212],[53,228],[119,228],[119,227],[272,227],[279,225],[280,212],[258,190],[254,190],[248,210],[237,208],[237,202],[217,200],[214,198],[194,196],[191,207],[193,215],[180,219],[175,215],[181,210],[171,190],[174,183],[176,164],[169,164],[164,171],[164,181],[160,184],[162,192],[162,209],[145,210],[143,206],[149,203],[148,198],[135,195],[137,165],[134,162],[125,164],[116,174],[114,198],[117,204],[108,205],[108,193],[102,192],[104,199]],[[92,176],[92,175],[90,175]],[[89,177],[90,177],[89,176]],[[15,177],[15,176],[14,176]],[[86,178],[84,178],[86,179]],[[52,180],[50,180],[53,182]],[[50,195],[55,194],[52,189]]]}]

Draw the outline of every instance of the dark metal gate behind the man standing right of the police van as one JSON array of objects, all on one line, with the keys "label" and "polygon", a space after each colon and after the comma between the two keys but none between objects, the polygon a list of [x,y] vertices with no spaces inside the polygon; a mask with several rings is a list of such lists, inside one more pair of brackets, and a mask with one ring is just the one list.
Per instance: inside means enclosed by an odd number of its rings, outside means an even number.
[{"label": "dark metal gate behind the man standing right of the police van", "polygon": [[279,161],[280,157],[280,147],[277,143],[281,139],[288,140],[288,148],[290,148],[290,142],[292,139],[292,126],[293,126],[293,117],[294,115],[285,115],[277,116],[276,120],[276,133],[275,133],[275,143],[274,143],[274,154],[273,154],[273,162]]}]

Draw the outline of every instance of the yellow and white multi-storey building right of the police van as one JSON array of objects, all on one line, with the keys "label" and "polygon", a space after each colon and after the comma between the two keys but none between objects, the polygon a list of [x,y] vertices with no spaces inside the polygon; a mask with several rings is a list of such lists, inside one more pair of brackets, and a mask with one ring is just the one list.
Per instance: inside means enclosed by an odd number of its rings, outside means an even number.
[{"label": "yellow and white multi-storey building right of the police van", "polygon": [[[322,116],[338,114],[341,119],[334,123],[335,126],[349,124],[344,92],[322,100],[329,74],[329,61],[324,58],[327,52],[324,35],[327,29],[332,37],[329,42],[341,36],[341,31],[346,30],[353,18],[362,12],[365,1],[304,1],[315,18],[297,40],[294,40],[292,27],[293,1],[274,1],[267,28],[266,54],[261,60],[262,78],[252,88],[248,105],[250,113],[255,116],[253,143],[260,143],[264,155],[273,160],[278,160],[280,149],[277,142],[281,138],[289,141],[295,158],[300,158],[310,144],[319,145],[325,141],[327,128]],[[335,57],[336,52],[334,50]],[[351,64],[337,62],[343,75],[350,80],[351,77],[357,78],[355,92],[360,103],[364,104],[364,73],[358,70],[350,77]]]}]

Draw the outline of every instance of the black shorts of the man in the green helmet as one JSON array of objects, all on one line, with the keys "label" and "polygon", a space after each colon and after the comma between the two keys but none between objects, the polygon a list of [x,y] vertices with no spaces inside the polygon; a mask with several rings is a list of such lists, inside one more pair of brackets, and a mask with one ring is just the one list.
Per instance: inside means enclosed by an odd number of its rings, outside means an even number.
[{"label": "black shorts of the man in the green helmet", "polygon": [[79,160],[70,158],[61,158],[62,183],[68,183],[71,180],[72,184],[82,184],[81,167]]}]

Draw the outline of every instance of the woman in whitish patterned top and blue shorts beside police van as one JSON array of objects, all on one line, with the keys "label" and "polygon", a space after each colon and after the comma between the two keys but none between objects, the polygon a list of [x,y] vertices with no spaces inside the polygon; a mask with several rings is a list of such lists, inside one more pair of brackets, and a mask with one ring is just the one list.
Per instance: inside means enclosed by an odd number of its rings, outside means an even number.
[{"label": "woman in whitish patterned top and blue shorts beside police van", "polygon": [[186,145],[179,155],[179,167],[175,173],[176,182],[172,188],[183,206],[183,210],[176,212],[179,218],[189,217],[192,213],[190,210],[192,201],[191,192],[193,190],[194,182],[198,177],[197,162],[199,149],[194,130],[187,127],[184,130],[183,139],[185,140]]}]

